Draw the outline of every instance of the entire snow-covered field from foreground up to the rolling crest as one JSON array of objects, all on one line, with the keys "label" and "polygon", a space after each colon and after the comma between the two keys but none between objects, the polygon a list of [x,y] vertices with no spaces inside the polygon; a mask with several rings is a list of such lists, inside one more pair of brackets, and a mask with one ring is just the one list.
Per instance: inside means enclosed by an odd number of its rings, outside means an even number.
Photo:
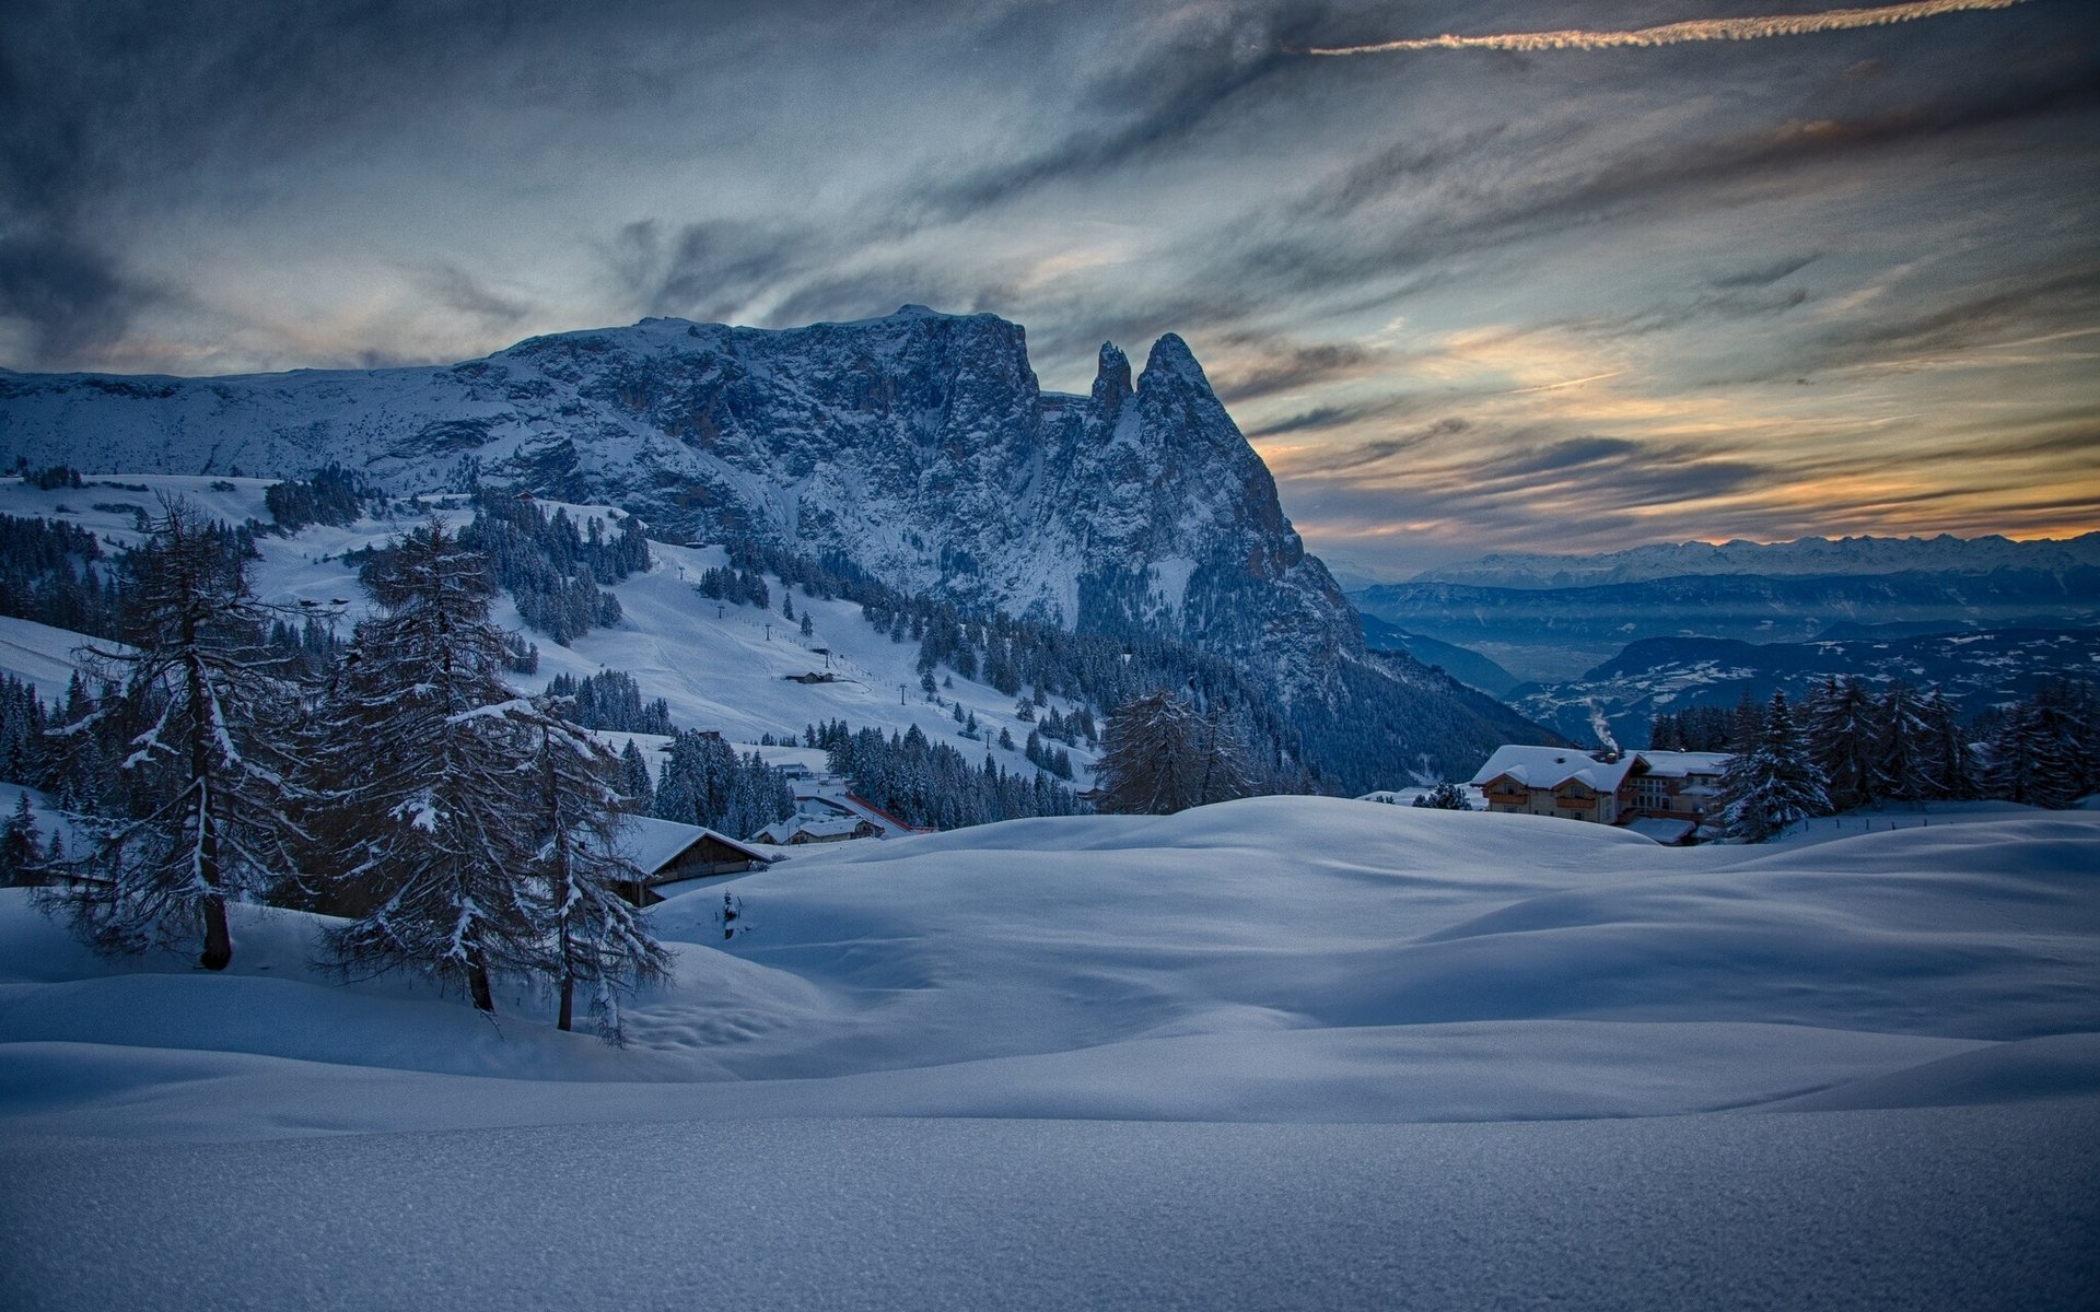
[{"label": "entire snow-covered field from foreground up to the rolling crest", "polygon": [[1016,821],[664,903],[626,1050],[8,892],[0,1306],[2090,1306],[2096,869],[2092,812]]}]

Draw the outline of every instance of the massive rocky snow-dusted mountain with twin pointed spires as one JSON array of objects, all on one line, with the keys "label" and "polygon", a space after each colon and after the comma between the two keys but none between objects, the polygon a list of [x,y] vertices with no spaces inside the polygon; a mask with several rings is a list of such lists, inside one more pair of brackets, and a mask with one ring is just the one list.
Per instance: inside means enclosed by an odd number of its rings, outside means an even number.
[{"label": "massive rocky snow-dusted mountain with twin pointed spires", "polygon": [[1535,737],[1403,653],[1369,653],[1275,481],[1178,336],[1134,378],[1044,393],[993,315],[571,332],[441,367],[246,378],[0,376],[0,456],[296,474],[395,493],[517,485],[758,542],[1063,628],[1163,636],[1275,691],[1346,787],[1455,775]]}]

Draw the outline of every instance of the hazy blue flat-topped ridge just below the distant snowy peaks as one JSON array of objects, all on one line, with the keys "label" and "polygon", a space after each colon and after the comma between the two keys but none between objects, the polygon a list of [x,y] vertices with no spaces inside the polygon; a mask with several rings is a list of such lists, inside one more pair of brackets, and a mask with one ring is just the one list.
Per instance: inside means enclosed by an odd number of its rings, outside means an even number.
[{"label": "hazy blue flat-topped ridge just below the distant snowy peaks", "polygon": [[1942,634],[2096,626],[2100,565],[1989,573],[1712,573],[1556,588],[1413,581],[1367,588],[1354,602],[1367,615],[1468,647],[1525,678],[1560,682],[1642,638],[1806,642],[1840,623],[1903,623]]}]

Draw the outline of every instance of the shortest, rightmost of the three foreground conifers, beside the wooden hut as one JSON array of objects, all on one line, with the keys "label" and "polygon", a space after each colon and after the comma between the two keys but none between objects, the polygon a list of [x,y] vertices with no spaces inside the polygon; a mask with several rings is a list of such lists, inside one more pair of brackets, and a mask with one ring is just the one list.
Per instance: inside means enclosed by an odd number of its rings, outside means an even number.
[{"label": "shortest, rightmost of the three foreground conifers, beside the wooden hut", "polygon": [[[536,707],[540,722],[540,859],[546,880],[548,966],[559,997],[556,1027],[571,1029],[575,989],[590,997],[598,1033],[617,1043],[620,993],[664,978],[670,953],[649,932],[620,884],[643,888],[643,871],[620,844],[620,760],[561,718],[561,701]],[[630,741],[632,745],[632,741]]]}]

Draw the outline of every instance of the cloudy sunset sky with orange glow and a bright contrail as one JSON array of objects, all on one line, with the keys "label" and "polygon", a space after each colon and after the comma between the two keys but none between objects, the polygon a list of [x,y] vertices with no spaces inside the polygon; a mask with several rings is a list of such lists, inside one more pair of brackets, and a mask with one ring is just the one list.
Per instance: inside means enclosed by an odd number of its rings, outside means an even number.
[{"label": "cloudy sunset sky with orange glow and a bright contrail", "polygon": [[0,367],[922,302],[1182,334],[1386,577],[2100,529],[2087,0],[6,8]]}]

